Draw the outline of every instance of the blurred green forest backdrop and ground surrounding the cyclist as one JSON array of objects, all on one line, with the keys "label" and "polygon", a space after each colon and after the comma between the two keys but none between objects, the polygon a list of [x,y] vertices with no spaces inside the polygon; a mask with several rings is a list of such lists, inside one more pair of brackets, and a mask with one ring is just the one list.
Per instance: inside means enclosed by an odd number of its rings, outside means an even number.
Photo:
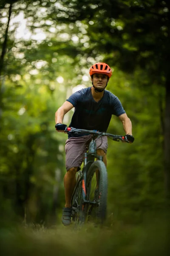
[{"label": "blurred green forest backdrop and ground surrounding the cyclist", "polygon": [[[114,70],[107,89],[118,96],[130,117],[135,142],[108,141],[106,227],[103,231],[87,227],[77,234],[60,226],[67,135],[55,131],[54,115],[68,96],[91,86],[89,68],[99,61]],[[72,114],[65,116],[66,124]],[[124,135],[116,116],[108,132]],[[22,244],[20,236],[25,253],[35,255],[46,250],[53,255],[55,248],[60,248],[58,254],[70,250],[75,255],[80,250],[77,244],[84,247],[85,243],[93,254],[150,255],[155,250],[154,255],[160,255],[167,248],[169,207],[169,1],[1,0],[0,237],[4,255],[10,254],[9,244],[16,249],[12,255],[19,255],[22,248],[14,244]],[[53,236],[61,236],[60,243]],[[68,247],[65,236],[67,241],[73,236]],[[37,244],[27,250],[34,240]]]}]

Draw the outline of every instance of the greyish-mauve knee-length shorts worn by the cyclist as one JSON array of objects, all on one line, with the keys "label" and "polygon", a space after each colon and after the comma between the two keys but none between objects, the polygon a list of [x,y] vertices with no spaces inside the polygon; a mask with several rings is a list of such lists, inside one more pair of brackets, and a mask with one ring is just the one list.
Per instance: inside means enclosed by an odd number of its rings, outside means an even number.
[{"label": "greyish-mauve knee-length shorts worn by the cyclist", "polygon": [[[65,167],[68,171],[72,167],[78,167],[82,165],[84,154],[86,152],[91,138],[93,135],[86,135],[82,137],[71,137],[65,142]],[[106,136],[96,139],[96,148],[101,148],[105,153],[108,149],[108,138]]]}]

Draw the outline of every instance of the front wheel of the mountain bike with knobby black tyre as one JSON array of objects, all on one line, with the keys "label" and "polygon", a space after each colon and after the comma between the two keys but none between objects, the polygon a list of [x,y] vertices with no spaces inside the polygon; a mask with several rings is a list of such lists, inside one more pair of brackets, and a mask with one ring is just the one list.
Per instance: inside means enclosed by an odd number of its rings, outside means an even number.
[{"label": "front wheel of the mountain bike with knobby black tyre", "polygon": [[87,174],[88,221],[103,223],[106,218],[108,175],[102,161],[92,163]]}]

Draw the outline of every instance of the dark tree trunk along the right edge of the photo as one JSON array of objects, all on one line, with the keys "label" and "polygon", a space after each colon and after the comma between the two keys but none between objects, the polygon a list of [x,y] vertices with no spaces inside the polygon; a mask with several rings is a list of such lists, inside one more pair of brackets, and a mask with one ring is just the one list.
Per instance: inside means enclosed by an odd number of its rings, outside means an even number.
[{"label": "dark tree trunk along the right edge of the photo", "polygon": [[170,79],[166,82],[164,121],[164,175],[166,196],[170,199]]}]

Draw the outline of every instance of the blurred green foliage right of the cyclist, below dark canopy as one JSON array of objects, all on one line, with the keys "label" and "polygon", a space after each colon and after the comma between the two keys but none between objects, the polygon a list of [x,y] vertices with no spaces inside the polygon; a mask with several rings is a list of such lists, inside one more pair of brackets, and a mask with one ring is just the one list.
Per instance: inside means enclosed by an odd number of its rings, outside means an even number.
[{"label": "blurred green foliage right of the cyclist, below dark canopy", "polygon": [[[118,77],[123,76],[118,70],[115,73]],[[136,221],[141,221],[143,211],[160,208],[164,204],[163,136],[159,106],[164,93],[159,86],[141,90],[128,77],[121,78],[121,82],[114,77],[113,89],[111,83],[109,81],[108,89],[119,97],[127,111],[133,123],[135,141],[131,145],[108,141],[108,201],[113,200],[108,210],[116,218],[123,216],[128,221],[135,221],[134,215],[133,220],[130,216],[136,212]],[[142,83],[138,84],[139,87]],[[108,132],[124,135],[118,119],[113,118]]]}]

